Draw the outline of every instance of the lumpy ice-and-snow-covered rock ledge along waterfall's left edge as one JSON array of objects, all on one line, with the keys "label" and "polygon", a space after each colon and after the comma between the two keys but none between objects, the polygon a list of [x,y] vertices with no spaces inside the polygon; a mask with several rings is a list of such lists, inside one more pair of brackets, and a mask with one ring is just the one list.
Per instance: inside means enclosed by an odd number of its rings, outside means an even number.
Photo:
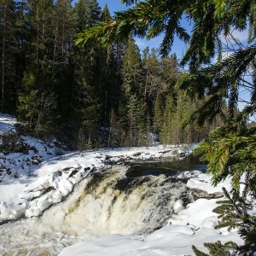
[{"label": "lumpy ice-and-snow-covered rock ledge along waterfall's left edge", "polygon": [[45,177],[41,183],[32,183],[27,187],[25,195],[20,197],[20,203],[0,202],[0,222],[22,216],[38,217],[52,205],[61,202],[94,169],[94,166],[64,168]]}]

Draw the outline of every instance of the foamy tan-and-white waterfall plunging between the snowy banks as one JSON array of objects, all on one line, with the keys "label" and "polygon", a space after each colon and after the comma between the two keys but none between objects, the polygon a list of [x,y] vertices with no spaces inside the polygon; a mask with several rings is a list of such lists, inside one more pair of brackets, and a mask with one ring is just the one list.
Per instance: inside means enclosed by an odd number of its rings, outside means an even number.
[{"label": "foamy tan-and-white waterfall plunging between the snowy banks", "polygon": [[177,211],[177,201],[189,197],[185,183],[172,177],[127,178],[125,172],[127,167],[113,166],[95,173],[77,196],[45,212],[41,221],[49,225],[51,219],[52,228],[59,222],[63,232],[76,235],[148,234]]}]

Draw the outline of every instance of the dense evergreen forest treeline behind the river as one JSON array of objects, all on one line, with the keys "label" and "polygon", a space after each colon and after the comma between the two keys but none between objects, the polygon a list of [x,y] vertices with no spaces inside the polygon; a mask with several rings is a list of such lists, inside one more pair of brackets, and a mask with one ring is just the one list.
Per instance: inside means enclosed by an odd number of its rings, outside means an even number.
[{"label": "dense evergreen forest treeline behind the river", "polygon": [[20,129],[58,137],[79,150],[192,143],[218,124],[182,125],[202,104],[176,87],[175,54],[142,54],[130,37],[83,49],[79,32],[111,20],[96,0],[0,0],[1,108]]}]

